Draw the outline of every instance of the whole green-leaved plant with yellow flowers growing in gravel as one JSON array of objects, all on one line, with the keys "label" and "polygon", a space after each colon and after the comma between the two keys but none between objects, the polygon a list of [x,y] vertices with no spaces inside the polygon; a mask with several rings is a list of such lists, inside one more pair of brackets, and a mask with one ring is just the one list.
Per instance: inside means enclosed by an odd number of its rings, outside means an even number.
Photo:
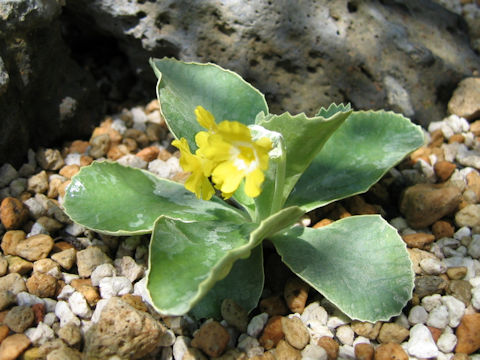
[{"label": "whole green-leaved plant with yellow flowers growing in gravel", "polygon": [[172,145],[189,172],[185,184],[94,162],[72,179],[64,206],[73,221],[100,233],[151,233],[147,288],[156,309],[218,317],[225,298],[253,309],[268,238],[294,273],[351,318],[399,314],[414,274],[385,220],[296,224],[367,191],[422,145],[421,129],[401,115],[349,105],[313,117],[273,115],[264,96],[231,71],[168,58],[151,65]]}]

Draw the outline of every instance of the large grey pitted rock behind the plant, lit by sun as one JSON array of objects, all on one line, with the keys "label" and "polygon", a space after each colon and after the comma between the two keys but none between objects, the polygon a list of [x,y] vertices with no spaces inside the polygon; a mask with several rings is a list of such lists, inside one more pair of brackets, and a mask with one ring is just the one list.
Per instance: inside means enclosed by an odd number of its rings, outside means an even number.
[{"label": "large grey pitted rock behind the plant, lit by sun", "polygon": [[67,10],[88,38],[116,39],[147,87],[149,56],[212,61],[266,93],[272,112],[350,101],[426,125],[480,68],[463,19],[429,0],[76,0]]}]

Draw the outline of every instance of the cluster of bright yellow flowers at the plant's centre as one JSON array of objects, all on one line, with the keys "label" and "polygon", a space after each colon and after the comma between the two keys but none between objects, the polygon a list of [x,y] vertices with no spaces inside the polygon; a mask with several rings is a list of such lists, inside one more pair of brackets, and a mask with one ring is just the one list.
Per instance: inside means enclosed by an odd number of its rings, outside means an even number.
[{"label": "cluster of bright yellow flowers at the plant's centre", "polygon": [[245,179],[245,193],[250,197],[260,195],[271,140],[262,137],[254,141],[250,129],[238,121],[224,120],[217,125],[213,115],[201,106],[197,106],[195,115],[207,130],[195,135],[195,154],[185,138],[172,142],[180,150],[183,170],[191,172],[185,188],[198,198],[209,200],[215,194],[211,178],[215,188],[228,199]]}]

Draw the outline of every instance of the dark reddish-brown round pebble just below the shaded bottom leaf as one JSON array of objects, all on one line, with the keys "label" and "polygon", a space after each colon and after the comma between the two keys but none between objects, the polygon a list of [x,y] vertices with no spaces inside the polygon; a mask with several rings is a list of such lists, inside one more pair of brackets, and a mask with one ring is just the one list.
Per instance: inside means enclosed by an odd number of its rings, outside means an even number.
[{"label": "dark reddish-brown round pebble just below the shaded bottom leaf", "polygon": [[219,322],[210,321],[195,332],[191,344],[208,356],[217,357],[226,350],[229,340],[228,331]]}]

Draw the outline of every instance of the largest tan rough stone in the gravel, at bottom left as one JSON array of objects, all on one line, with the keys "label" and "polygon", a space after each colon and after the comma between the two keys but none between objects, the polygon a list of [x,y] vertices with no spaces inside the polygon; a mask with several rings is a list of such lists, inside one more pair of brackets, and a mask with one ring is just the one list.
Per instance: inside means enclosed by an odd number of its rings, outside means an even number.
[{"label": "largest tan rough stone in the gravel, at bottom left", "polygon": [[85,335],[84,356],[106,359],[116,355],[140,359],[159,346],[171,345],[171,334],[151,315],[113,297]]}]

